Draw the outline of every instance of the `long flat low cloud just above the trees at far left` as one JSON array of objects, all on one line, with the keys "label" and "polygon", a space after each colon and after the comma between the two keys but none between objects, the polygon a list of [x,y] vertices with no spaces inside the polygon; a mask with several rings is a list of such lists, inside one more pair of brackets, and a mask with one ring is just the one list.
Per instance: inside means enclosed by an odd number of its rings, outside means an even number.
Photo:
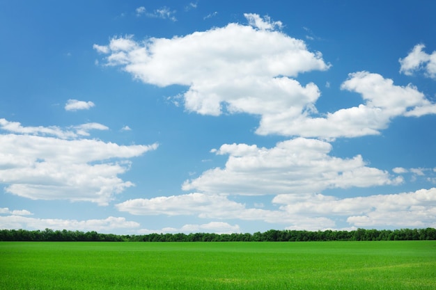
[{"label": "long flat low cloud just above the trees at far left", "polygon": [[1,229],[68,229],[79,231],[114,232],[116,229],[132,229],[139,223],[109,216],[102,220],[61,220],[52,218],[26,218],[24,216],[0,216]]}]

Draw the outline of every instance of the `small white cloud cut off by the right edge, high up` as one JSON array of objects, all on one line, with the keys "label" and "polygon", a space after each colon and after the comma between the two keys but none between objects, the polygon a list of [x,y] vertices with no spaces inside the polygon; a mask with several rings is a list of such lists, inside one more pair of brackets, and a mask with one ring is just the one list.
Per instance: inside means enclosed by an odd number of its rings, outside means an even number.
[{"label": "small white cloud cut off by the right edge, high up", "polygon": [[436,79],[436,51],[427,54],[423,51],[425,47],[423,44],[415,45],[405,58],[400,58],[400,72],[410,76],[416,71],[423,70],[426,76]]}]

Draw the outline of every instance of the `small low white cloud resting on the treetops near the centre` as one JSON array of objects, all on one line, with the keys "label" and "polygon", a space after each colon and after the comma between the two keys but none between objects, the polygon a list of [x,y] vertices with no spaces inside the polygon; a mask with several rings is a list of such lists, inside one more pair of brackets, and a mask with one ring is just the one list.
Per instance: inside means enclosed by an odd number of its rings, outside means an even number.
[{"label": "small low white cloud resting on the treetops near the centre", "polygon": [[193,233],[193,232],[207,232],[215,234],[232,234],[240,233],[239,225],[230,225],[224,222],[210,222],[201,225],[188,224],[180,228],[164,227],[162,229],[139,229],[138,234],[152,234],[152,233]]}]

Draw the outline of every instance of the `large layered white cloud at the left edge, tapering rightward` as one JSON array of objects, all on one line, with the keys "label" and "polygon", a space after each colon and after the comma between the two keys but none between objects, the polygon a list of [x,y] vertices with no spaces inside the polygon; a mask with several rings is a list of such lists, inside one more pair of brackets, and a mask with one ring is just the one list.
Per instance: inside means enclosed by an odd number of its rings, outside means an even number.
[{"label": "large layered white cloud at the left edge, tapering rightward", "polygon": [[[45,127],[21,128],[46,131]],[[59,131],[54,135],[59,136]],[[118,177],[129,169],[128,159],[156,148],[157,144],[125,146],[91,139],[0,134],[0,183],[6,184],[6,192],[34,200],[105,205],[116,193],[133,186]]]}]

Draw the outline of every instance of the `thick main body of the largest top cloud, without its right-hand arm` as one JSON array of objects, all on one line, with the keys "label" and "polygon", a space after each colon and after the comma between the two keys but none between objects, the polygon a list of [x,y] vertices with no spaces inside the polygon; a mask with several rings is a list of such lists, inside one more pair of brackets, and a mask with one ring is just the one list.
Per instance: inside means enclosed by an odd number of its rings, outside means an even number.
[{"label": "thick main body of the largest top cloud, without its right-hand arm", "polygon": [[[320,93],[315,84],[301,86],[288,76],[327,70],[329,65],[302,40],[266,29],[277,22],[260,19],[253,25],[228,24],[143,42],[114,38],[107,65],[120,65],[144,83],[189,86],[183,95],[188,111],[219,115],[226,108],[232,113],[265,115],[287,110],[298,115]],[[118,42],[126,44],[123,49]]]}]

